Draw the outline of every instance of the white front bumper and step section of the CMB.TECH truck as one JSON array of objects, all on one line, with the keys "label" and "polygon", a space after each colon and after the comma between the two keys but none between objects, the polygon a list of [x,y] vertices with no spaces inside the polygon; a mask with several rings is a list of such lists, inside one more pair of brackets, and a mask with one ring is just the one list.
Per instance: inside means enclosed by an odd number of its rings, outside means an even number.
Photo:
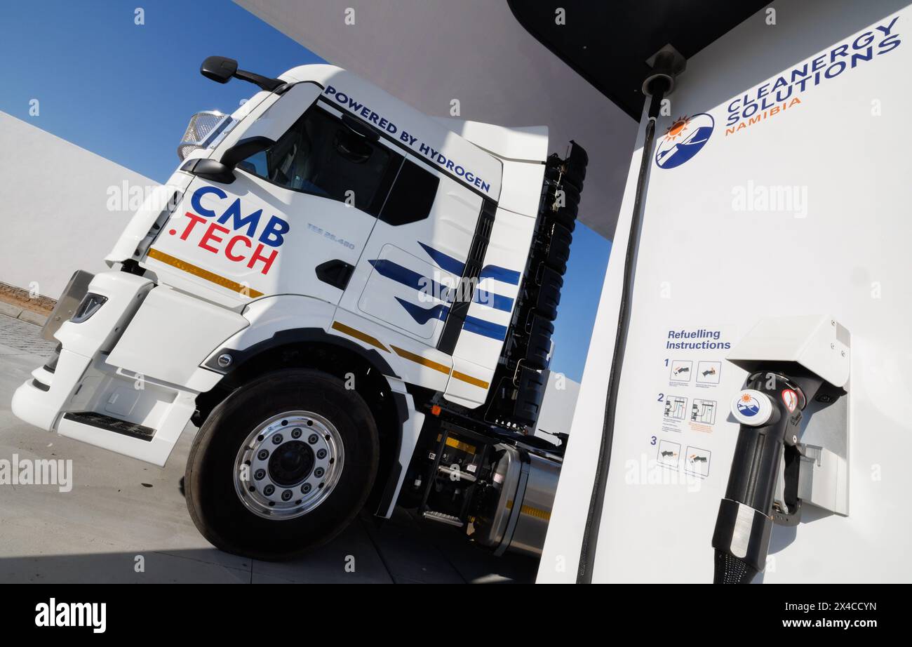
[{"label": "white front bumper and step section of the CMB.TECH truck", "polygon": [[[155,287],[149,279],[126,272],[99,274],[88,291],[107,300],[88,319],[60,325],[54,333],[60,342],[58,356],[16,390],[13,412],[46,431],[164,465],[190,422],[197,395],[221,379],[200,369],[199,362],[188,361],[189,350],[175,352],[173,339],[199,323],[194,317],[201,311],[213,317],[199,325],[203,340],[215,323],[228,327],[223,332],[228,337],[246,319],[192,297],[175,296],[168,287]],[[171,344],[162,345],[162,339]],[[190,350],[201,354],[202,361],[208,352],[200,339],[197,342]],[[162,359],[164,350],[171,355]],[[172,364],[184,372],[169,372]]]}]

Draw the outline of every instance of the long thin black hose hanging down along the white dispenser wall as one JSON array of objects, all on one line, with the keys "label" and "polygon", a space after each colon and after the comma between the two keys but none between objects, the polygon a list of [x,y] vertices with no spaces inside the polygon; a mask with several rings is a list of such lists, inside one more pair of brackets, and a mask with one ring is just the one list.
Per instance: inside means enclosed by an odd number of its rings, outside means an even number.
[{"label": "long thin black hose hanging down along the white dispenser wall", "polygon": [[608,393],[605,401],[605,422],[602,425],[602,440],[598,447],[596,476],[592,485],[592,496],[589,500],[589,511],[586,515],[586,528],[583,531],[583,545],[580,547],[579,568],[576,570],[577,584],[592,583],[592,561],[596,555],[598,529],[602,523],[602,508],[605,506],[605,481],[608,464],[611,462],[611,443],[615,431],[617,413],[617,391],[620,386],[620,374],[624,365],[624,350],[627,346],[627,330],[630,327],[630,297],[633,293],[633,279],[637,267],[637,247],[639,246],[640,229],[643,222],[643,202],[646,197],[646,176],[652,160],[652,141],[656,134],[656,119],[662,98],[668,91],[668,78],[658,77],[650,86],[652,99],[649,103],[646,137],[643,140],[643,157],[639,163],[637,176],[637,197],[633,203],[633,217],[630,220],[630,235],[627,236],[627,255],[624,257],[624,287],[621,291],[620,312],[617,318],[617,335],[615,350],[611,360],[611,372],[608,374]]}]

